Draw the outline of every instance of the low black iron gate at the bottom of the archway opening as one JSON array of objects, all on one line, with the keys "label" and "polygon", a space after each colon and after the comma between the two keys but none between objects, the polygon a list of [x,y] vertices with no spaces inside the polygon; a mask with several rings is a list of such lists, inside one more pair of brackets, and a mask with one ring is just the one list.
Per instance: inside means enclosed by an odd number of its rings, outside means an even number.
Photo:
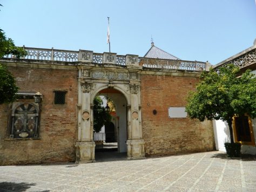
[{"label": "low black iron gate at the bottom of the archway opening", "polygon": [[118,149],[117,136],[114,132],[93,133],[95,150],[98,152],[114,151]]}]

